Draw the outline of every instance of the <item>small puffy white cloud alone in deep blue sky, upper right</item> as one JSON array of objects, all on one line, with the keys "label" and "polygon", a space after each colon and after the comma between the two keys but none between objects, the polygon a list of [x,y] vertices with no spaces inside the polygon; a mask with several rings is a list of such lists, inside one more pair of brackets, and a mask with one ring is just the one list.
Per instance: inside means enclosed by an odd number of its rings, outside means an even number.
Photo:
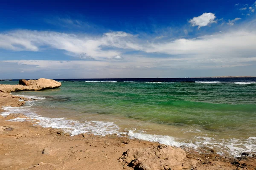
[{"label": "small puffy white cloud alone in deep blue sky, upper right", "polygon": [[198,28],[200,28],[203,26],[208,26],[211,23],[217,23],[215,18],[215,14],[204,13],[199,17],[194,17],[193,19],[189,20],[189,23],[191,23],[192,26],[198,26]]}]

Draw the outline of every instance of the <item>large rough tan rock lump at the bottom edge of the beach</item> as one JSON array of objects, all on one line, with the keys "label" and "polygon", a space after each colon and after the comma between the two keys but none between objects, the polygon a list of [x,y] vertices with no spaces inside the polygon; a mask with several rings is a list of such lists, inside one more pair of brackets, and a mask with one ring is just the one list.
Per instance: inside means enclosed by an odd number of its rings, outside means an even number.
[{"label": "large rough tan rock lump at the bottom edge of the beach", "polygon": [[131,148],[123,153],[123,161],[136,170],[182,169],[185,158],[184,150],[166,145]]}]

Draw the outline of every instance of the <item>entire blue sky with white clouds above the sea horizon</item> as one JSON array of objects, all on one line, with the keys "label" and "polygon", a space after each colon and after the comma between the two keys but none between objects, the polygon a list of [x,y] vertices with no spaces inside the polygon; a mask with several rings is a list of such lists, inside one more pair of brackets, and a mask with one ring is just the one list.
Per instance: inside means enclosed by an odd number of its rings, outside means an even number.
[{"label": "entire blue sky with white clouds above the sea horizon", "polygon": [[255,0],[1,0],[0,79],[256,76]]}]

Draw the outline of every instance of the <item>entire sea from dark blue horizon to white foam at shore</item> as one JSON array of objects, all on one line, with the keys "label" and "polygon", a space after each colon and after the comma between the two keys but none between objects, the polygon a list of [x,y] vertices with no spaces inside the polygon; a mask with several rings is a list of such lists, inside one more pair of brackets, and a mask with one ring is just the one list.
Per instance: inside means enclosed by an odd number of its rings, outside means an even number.
[{"label": "entire sea from dark blue horizon to white foam at shore", "polygon": [[256,152],[256,78],[55,80],[61,88],[13,93],[36,100],[1,114],[24,113],[71,135],[127,134],[232,157]]}]

